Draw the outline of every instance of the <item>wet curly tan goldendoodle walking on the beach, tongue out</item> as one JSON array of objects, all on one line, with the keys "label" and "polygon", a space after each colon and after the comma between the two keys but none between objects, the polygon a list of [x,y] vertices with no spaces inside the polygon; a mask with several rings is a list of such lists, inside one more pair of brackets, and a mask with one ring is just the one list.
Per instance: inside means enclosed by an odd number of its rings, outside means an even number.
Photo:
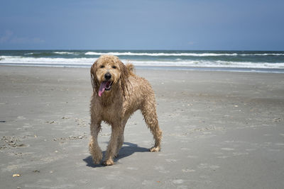
[{"label": "wet curly tan goldendoodle walking on the beach, tongue out", "polygon": [[97,142],[101,122],[111,125],[111,139],[103,162],[111,166],[124,143],[126,122],[136,110],[141,110],[155,139],[155,145],[150,151],[160,151],[162,131],[158,126],[155,95],[148,81],[133,73],[133,64],[124,65],[119,57],[102,55],[91,67],[91,80],[92,137],[89,151],[94,164],[102,161],[102,151]]}]

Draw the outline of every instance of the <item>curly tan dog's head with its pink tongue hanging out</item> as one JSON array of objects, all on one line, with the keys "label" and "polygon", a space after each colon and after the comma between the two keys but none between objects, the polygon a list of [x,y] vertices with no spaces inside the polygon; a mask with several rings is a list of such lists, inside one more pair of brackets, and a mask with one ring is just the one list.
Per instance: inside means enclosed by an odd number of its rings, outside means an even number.
[{"label": "curly tan dog's head with its pink tongue hanging out", "polygon": [[128,77],[129,73],[124,63],[113,55],[102,55],[91,67],[93,91],[99,96],[108,93],[116,85],[121,86],[125,96]]}]

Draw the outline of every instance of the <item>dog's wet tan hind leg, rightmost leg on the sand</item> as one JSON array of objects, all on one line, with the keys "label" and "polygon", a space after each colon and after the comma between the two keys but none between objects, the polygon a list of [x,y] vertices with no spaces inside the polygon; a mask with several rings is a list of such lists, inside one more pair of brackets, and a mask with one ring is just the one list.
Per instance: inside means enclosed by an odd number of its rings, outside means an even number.
[{"label": "dog's wet tan hind leg, rightmost leg on the sand", "polygon": [[155,110],[155,100],[147,101],[146,103],[144,103],[143,107],[141,108],[141,112],[144,116],[144,120],[147,126],[150,128],[155,139],[155,145],[150,149],[150,151],[160,151],[162,131],[160,130],[158,125],[158,116]]}]

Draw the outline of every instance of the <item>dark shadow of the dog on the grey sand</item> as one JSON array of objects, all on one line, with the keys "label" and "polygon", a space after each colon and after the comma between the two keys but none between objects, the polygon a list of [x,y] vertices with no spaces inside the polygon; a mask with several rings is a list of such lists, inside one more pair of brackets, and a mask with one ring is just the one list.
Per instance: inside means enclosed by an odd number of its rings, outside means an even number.
[{"label": "dark shadow of the dog on the grey sand", "polygon": [[[123,146],[121,147],[121,149],[119,150],[119,156],[114,158],[114,162],[119,161],[119,159],[123,159],[127,156],[130,156],[131,154],[135,153],[135,152],[146,152],[149,151],[149,149],[143,148],[143,147],[138,147],[137,144],[133,144],[131,142],[124,142],[124,145],[127,146]],[[106,151],[102,152],[103,156],[105,156]],[[87,158],[83,159],[87,165],[86,166],[90,166],[90,167],[102,167],[102,164],[96,165],[93,163],[92,161],[92,156],[87,156]]]}]

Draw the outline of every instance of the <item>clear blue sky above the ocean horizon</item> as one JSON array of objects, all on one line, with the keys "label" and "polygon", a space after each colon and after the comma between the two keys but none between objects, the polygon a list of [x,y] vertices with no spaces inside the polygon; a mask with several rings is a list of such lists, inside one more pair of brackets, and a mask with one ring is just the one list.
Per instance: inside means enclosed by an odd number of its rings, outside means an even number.
[{"label": "clear blue sky above the ocean horizon", "polygon": [[0,4],[0,50],[284,50],[283,0]]}]

